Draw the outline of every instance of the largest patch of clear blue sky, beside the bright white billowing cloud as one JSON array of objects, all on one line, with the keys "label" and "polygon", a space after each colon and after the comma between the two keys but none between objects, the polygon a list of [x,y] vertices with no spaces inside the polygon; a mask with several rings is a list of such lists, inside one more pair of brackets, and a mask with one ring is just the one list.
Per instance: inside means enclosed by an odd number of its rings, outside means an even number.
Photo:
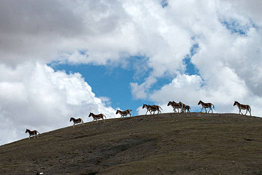
[{"label": "largest patch of clear blue sky, beside the bright white billowing cloud", "polygon": [[[134,70],[121,67],[107,67],[106,65],[70,65],[49,64],[54,70],[79,72],[85,81],[92,87],[97,97],[108,97],[108,105],[122,110],[131,109],[137,115],[136,108],[143,103],[151,103],[146,99],[134,99],[129,83],[134,81]],[[140,77],[142,78],[142,77]]]}]

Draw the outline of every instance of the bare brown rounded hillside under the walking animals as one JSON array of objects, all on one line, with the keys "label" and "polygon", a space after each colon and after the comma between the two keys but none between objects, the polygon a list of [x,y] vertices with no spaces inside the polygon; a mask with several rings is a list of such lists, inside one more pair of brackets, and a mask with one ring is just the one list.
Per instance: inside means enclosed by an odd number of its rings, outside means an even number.
[{"label": "bare brown rounded hillside under the walking animals", "polygon": [[261,135],[232,113],[107,119],[1,145],[0,174],[262,174]]}]

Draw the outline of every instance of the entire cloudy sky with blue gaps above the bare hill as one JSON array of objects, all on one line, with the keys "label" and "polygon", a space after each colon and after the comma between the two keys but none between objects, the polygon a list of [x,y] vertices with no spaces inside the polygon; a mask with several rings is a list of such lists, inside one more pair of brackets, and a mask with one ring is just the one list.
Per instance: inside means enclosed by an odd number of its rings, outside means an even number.
[{"label": "entire cloudy sky with blue gaps above the bare hill", "polygon": [[261,0],[1,0],[0,145],[89,112],[262,116]]}]

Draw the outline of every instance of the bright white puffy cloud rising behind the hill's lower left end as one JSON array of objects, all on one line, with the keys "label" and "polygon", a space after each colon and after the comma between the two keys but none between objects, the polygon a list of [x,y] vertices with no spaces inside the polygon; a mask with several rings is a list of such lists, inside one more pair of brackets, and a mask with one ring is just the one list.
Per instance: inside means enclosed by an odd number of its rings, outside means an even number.
[{"label": "bright white puffy cloud rising behind the hill's lower left end", "polygon": [[[55,72],[46,64],[27,62],[14,69],[1,64],[0,74],[4,74],[0,77],[0,144],[24,138],[25,128],[45,132],[72,125],[71,116],[84,122],[92,120],[89,112],[116,116],[115,109],[96,97],[79,73]],[[9,131],[12,134],[6,134]]]}]

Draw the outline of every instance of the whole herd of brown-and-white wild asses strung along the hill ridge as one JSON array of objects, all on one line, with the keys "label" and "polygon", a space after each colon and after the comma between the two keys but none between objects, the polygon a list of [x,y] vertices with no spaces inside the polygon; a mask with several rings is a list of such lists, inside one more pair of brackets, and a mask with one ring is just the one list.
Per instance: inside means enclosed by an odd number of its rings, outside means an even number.
[{"label": "whole herd of brown-and-white wild asses strung along the hill ridge", "polygon": [[[204,108],[205,113],[206,113],[207,112],[206,108],[209,108],[208,113],[209,113],[210,110],[211,110],[211,113],[213,113],[212,106],[214,108],[214,105],[212,103],[210,103],[210,102],[205,103],[205,102],[199,100],[197,105],[199,105],[199,104],[201,104],[201,106],[202,106],[200,112],[202,112],[202,109]],[[173,111],[174,112],[176,112],[176,109],[177,109],[177,112],[179,112],[179,108],[181,109],[180,112],[186,112],[186,111],[190,112],[190,106],[182,103],[181,101],[179,101],[178,103],[176,103],[175,101],[168,101],[167,106],[169,106],[169,105],[171,105],[173,107]],[[250,108],[250,106],[248,104],[240,104],[238,101],[234,101],[233,106],[234,105],[236,105],[238,107],[239,114],[240,113],[243,114],[241,112],[241,109],[245,109],[246,110],[245,114],[248,111],[250,116],[251,116],[251,108]],[[160,109],[162,110],[162,108],[159,105],[143,104],[142,108],[146,108],[147,109],[145,114],[147,114],[148,111],[149,111],[150,114],[154,114],[155,111],[157,111],[157,114],[158,114],[158,113],[161,113]],[[124,110],[124,111],[116,110],[115,114],[119,113],[121,115],[121,118],[124,118],[124,116],[128,115],[128,114],[129,114],[129,117],[131,117],[130,111],[132,111],[132,110],[130,110],[130,109],[127,109],[127,110]],[[93,123],[94,120],[96,121],[96,123],[98,123],[97,119],[102,119],[103,122],[104,122],[104,118],[106,118],[105,115],[102,114],[102,113],[100,113],[100,114],[93,114],[92,112],[90,112],[88,117],[90,117],[90,116],[93,118],[92,123]],[[80,124],[83,125],[83,120],[81,118],[75,119],[74,117],[70,117],[69,121],[73,121],[73,128],[74,128],[74,125],[77,124],[77,123],[79,123],[78,125],[80,125]],[[32,130],[31,131],[29,129],[26,129],[25,133],[26,132],[29,133],[29,139],[30,139],[30,136],[33,136],[33,135],[34,135],[34,137],[37,136],[37,138],[38,138],[37,133],[40,134],[37,130]]]}]

